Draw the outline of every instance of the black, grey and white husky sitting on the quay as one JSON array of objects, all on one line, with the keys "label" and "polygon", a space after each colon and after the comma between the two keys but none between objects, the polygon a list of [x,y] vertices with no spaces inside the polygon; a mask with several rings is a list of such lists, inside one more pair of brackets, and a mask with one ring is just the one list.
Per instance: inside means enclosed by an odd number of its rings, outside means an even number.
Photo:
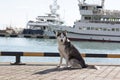
[{"label": "black, grey and white husky sitting on the quay", "polygon": [[60,63],[58,68],[62,65],[62,59],[66,61],[66,67],[70,68],[95,68],[95,66],[88,66],[85,64],[80,52],[71,44],[65,32],[55,32],[58,41],[58,50],[60,52]]}]

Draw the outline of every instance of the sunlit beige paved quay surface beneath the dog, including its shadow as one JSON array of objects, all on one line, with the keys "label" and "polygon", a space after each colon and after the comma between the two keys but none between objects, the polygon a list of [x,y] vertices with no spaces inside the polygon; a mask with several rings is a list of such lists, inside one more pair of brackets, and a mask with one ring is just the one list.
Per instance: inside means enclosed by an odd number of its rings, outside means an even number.
[{"label": "sunlit beige paved quay surface beneath the dog, including its shadow", "polygon": [[9,65],[0,63],[0,80],[120,80],[120,66],[96,69],[56,68],[56,64]]}]

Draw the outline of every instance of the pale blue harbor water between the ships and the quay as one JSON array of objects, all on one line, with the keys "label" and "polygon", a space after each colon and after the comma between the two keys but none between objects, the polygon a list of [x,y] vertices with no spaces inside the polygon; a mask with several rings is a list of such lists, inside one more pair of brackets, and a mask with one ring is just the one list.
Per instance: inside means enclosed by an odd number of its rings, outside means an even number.
[{"label": "pale blue harbor water between the ships and the quay", "polygon": [[[120,54],[120,43],[71,41],[81,53]],[[56,39],[0,37],[0,51],[58,52]],[[120,59],[85,58],[87,63],[120,64]],[[15,62],[15,57],[0,56],[0,62]],[[59,57],[22,57],[22,62],[59,62]]]}]

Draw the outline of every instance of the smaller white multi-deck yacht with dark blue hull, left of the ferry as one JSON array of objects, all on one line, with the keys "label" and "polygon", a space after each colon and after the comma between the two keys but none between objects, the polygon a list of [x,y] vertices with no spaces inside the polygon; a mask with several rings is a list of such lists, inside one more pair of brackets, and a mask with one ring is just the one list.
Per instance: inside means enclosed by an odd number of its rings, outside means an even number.
[{"label": "smaller white multi-deck yacht with dark blue hull, left of the ferry", "polygon": [[45,16],[38,16],[36,21],[28,21],[27,29],[23,30],[24,37],[52,37],[55,38],[55,34],[51,26],[58,27],[63,26],[64,22],[60,19],[57,10],[59,5],[57,0],[53,0],[53,4],[50,5],[50,12]]}]

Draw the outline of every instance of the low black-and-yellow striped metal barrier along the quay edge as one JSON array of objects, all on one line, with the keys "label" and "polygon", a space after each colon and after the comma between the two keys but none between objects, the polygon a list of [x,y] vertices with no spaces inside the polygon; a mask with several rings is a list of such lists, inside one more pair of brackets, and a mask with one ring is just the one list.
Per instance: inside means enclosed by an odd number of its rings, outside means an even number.
[{"label": "low black-and-yellow striped metal barrier along the quay edge", "polygon": [[[98,53],[81,53],[82,57],[88,58],[120,58],[120,54],[98,54]],[[36,56],[36,57],[59,57],[58,52],[9,52],[2,51],[0,56],[15,56],[15,63],[11,65],[23,65],[25,63],[21,62],[22,56]]]}]

